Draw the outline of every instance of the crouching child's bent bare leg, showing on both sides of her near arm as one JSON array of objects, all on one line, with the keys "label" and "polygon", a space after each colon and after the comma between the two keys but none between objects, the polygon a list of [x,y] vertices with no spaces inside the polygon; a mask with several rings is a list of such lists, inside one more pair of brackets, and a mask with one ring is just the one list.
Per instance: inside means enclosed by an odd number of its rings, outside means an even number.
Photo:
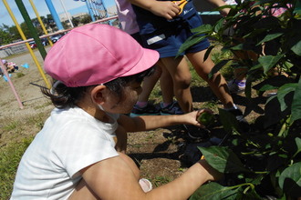
[{"label": "crouching child's bent bare leg, showing on both sides of her near arm", "polygon": [[[139,179],[140,179],[140,170],[137,167],[137,165],[134,163],[134,161],[128,155],[119,153],[119,156],[124,160],[124,162],[126,162],[130,166],[133,174],[137,178],[137,181],[139,181]],[[78,183],[75,191],[72,193],[72,195],[70,195],[70,197],[68,199],[69,200],[82,200],[82,199],[96,200],[96,199],[99,199],[99,198],[96,195],[93,194],[93,191],[91,191],[88,188],[88,185],[85,182],[85,180],[82,179]]]}]

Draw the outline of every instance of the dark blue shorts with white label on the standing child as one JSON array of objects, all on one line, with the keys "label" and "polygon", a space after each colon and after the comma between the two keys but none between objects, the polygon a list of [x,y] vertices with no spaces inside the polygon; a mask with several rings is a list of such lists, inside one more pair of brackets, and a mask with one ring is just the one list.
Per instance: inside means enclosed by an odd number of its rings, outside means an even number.
[{"label": "dark blue shorts with white label on the standing child", "polygon": [[[192,1],[190,3],[192,4]],[[161,58],[176,56],[180,46],[194,35],[191,29],[202,25],[201,16],[197,14],[190,3],[185,6],[187,12],[183,16],[180,15],[172,20],[152,15],[145,10],[140,10],[140,8],[134,8],[140,25],[143,47],[158,51]],[[185,10],[183,10],[184,12]],[[209,46],[208,39],[204,39],[198,44],[192,45],[181,55],[200,52]]]}]

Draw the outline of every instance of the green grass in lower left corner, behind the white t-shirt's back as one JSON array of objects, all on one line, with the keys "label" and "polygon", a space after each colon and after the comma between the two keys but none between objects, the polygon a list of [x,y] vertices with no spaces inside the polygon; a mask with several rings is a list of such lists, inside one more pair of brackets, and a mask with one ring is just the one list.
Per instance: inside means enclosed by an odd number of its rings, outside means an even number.
[{"label": "green grass in lower left corner, behind the white t-shirt's back", "polygon": [[0,149],[0,199],[9,199],[13,191],[16,169],[33,137],[11,143]]}]

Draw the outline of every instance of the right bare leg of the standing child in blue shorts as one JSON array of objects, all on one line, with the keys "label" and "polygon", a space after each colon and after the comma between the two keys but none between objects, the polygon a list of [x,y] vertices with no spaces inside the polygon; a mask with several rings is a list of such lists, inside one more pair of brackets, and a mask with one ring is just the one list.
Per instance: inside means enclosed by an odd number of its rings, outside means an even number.
[{"label": "right bare leg of the standing child in blue shorts", "polygon": [[205,80],[211,89],[213,90],[214,95],[222,102],[224,108],[232,108],[234,106],[234,101],[230,95],[226,81],[223,78],[223,75],[220,73],[215,73],[212,78],[208,78],[209,73],[213,69],[214,63],[213,60],[208,57],[205,62],[203,62],[203,57],[206,50],[197,53],[187,54],[188,59],[192,62],[195,71]]}]

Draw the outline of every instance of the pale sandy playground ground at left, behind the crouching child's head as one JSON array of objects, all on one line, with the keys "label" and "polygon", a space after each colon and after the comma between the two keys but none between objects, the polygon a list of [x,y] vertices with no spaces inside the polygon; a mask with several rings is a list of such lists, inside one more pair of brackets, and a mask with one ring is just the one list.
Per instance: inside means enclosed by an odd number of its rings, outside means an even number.
[{"label": "pale sandy playground ground at left, behind the crouching child's head", "polygon": [[[49,47],[47,47],[47,50]],[[43,58],[38,50],[34,50],[38,65],[43,67]],[[11,82],[16,90],[16,95],[20,99],[22,105],[17,101],[11,85],[5,82],[4,77],[0,77],[0,130],[4,130],[9,125],[21,125],[36,115],[45,114],[53,105],[49,104],[47,98],[41,93],[41,87],[46,86],[46,82],[42,78],[33,57],[29,53],[15,55],[5,58],[8,62],[14,62],[19,66],[19,70],[11,74]],[[28,64],[29,68],[21,65]],[[47,76],[47,75],[46,75]],[[49,76],[47,80],[51,81]],[[21,108],[23,106],[23,108]],[[0,133],[0,146],[4,145],[7,140],[23,137],[24,135],[34,135],[38,128],[22,125],[22,129],[18,131],[19,135],[3,135]],[[5,132],[6,133],[6,132]]]}]

